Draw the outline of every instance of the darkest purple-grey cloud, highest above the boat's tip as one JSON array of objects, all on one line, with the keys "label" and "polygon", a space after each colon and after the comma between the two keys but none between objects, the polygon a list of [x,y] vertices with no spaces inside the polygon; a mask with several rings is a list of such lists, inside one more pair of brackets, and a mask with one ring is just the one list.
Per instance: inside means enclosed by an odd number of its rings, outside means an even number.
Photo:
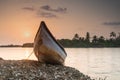
[{"label": "darkest purple-grey cloud, highest above the boat's tip", "polygon": [[44,5],[44,6],[41,6],[40,8],[43,10],[46,10],[46,11],[57,12],[57,13],[66,13],[67,12],[67,8],[58,7],[56,9],[53,9],[49,5]]}]

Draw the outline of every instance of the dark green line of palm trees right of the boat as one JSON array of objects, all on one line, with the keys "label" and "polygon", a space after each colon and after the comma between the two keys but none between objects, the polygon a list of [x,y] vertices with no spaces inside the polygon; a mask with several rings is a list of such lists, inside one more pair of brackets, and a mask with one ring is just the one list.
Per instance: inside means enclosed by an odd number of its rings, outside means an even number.
[{"label": "dark green line of palm trees right of the boat", "polygon": [[86,33],[85,37],[80,37],[76,33],[72,39],[59,39],[57,41],[64,47],[120,47],[120,33],[117,36],[115,32],[111,32],[109,39],[97,35],[91,37],[89,32]]}]

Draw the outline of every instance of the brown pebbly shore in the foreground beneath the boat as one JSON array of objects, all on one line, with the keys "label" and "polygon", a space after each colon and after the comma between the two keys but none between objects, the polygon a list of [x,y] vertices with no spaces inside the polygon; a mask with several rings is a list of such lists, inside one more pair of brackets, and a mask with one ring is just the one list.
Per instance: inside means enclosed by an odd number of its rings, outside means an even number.
[{"label": "brown pebbly shore in the foreground beneath the boat", "polygon": [[0,80],[92,80],[75,68],[34,60],[0,59]]}]

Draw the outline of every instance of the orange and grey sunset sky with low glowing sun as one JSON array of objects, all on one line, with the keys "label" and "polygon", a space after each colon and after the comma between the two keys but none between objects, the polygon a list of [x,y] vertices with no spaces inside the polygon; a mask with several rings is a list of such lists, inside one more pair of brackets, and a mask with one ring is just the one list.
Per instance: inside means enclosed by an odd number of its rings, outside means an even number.
[{"label": "orange and grey sunset sky with low glowing sun", "polygon": [[57,39],[120,32],[120,0],[0,0],[0,45],[33,42],[45,21]]}]

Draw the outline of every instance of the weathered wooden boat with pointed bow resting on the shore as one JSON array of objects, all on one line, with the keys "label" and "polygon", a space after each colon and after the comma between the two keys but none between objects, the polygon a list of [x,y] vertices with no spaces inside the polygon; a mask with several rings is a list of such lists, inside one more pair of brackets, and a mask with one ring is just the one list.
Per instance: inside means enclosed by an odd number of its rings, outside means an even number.
[{"label": "weathered wooden boat with pointed bow resting on the shore", "polygon": [[49,64],[64,64],[67,56],[64,48],[56,41],[44,21],[41,22],[34,39],[34,53],[38,61]]}]

